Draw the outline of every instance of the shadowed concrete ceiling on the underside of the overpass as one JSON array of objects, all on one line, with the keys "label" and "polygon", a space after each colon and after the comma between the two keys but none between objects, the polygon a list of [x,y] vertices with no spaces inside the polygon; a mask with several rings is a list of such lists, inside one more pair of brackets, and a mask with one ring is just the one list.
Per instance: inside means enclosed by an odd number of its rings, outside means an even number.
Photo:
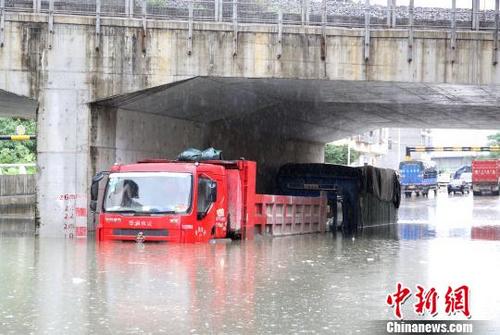
[{"label": "shadowed concrete ceiling on the underside of the overpass", "polygon": [[328,142],[381,127],[500,127],[500,86],[194,77],[101,107]]}]

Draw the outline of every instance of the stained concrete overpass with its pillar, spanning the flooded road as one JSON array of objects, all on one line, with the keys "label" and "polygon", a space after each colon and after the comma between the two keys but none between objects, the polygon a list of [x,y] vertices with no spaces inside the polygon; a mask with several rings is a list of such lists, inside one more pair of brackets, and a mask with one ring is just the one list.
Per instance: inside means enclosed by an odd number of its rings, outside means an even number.
[{"label": "stained concrete overpass with its pillar, spanning the flooded road", "polygon": [[345,135],[500,125],[496,30],[4,16],[0,89],[38,121],[44,236],[86,234],[90,177],[114,162],[213,145],[259,161],[266,190]]}]

